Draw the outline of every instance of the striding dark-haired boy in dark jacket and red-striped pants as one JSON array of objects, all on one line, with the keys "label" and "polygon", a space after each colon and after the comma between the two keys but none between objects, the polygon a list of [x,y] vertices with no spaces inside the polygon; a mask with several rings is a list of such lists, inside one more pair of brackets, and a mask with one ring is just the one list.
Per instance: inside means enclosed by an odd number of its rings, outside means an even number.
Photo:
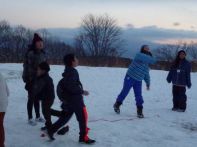
[{"label": "striding dark-haired boy in dark jacket and red-striped pants", "polygon": [[62,115],[52,125],[53,134],[65,125],[73,114],[75,114],[80,128],[79,142],[93,144],[95,143],[95,140],[88,137],[88,114],[83,100],[83,95],[87,96],[89,95],[89,92],[83,90],[83,86],[79,79],[79,74],[75,69],[75,67],[78,66],[78,59],[74,54],[68,54],[64,57],[64,63],[66,68],[62,75],[66,101],[63,102],[62,108],[65,111],[65,115]]}]

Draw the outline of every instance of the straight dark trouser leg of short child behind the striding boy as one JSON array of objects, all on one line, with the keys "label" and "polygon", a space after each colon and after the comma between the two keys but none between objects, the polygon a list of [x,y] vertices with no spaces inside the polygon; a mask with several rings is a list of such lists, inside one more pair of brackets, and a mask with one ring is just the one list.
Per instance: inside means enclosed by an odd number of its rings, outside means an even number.
[{"label": "straight dark trouser leg of short child behind the striding boy", "polygon": [[42,101],[42,113],[43,113],[43,116],[44,116],[45,121],[46,121],[45,126],[46,126],[47,130],[50,130],[51,125],[52,125],[51,114],[54,111],[51,109],[51,106],[53,105],[53,101],[54,100],[43,100]]}]

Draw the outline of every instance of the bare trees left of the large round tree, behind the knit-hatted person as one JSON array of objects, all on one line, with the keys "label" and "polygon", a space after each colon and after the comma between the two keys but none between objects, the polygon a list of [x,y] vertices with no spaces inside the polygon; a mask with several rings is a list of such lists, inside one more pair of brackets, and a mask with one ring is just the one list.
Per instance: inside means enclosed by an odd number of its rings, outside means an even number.
[{"label": "bare trees left of the large round tree, behind the knit-hatted person", "polygon": [[[53,37],[45,29],[36,32],[41,34],[50,59],[60,58],[62,54],[73,50],[70,45]],[[22,25],[11,27],[7,21],[0,21],[0,61],[22,62],[34,33],[34,30]]]}]

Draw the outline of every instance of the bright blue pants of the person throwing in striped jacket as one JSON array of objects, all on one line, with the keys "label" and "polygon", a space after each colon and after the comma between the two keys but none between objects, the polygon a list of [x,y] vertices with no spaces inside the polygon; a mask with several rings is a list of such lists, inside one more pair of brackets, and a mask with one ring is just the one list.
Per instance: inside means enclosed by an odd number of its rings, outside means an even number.
[{"label": "bright blue pants of the person throwing in striped jacket", "polygon": [[117,98],[117,102],[122,103],[132,87],[135,94],[136,106],[143,107],[144,100],[142,97],[142,81],[137,81],[128,75],[125,76],[123,89]]}]

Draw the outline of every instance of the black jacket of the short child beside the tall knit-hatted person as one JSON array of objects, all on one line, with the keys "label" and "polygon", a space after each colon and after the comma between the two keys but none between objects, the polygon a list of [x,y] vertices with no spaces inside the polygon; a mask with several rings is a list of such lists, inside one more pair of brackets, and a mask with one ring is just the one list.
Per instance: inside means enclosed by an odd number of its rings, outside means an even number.
[{"label": "black jacket of the short child beside the tall knit-hatted person", "polygon": [[39,100],[55,99],[53,80],[48,73],[36,78],[33,84],[32,94],[33,97]]}]

